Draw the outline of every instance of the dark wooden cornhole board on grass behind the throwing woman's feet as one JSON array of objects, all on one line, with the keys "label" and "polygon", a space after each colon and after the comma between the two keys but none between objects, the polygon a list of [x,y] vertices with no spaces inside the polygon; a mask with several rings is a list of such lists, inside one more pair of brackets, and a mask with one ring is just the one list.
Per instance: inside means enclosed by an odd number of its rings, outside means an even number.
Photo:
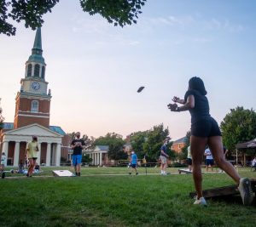
[{"label": "dark wooden cornhole board on grass behind the throwing woman's feet", "polygon": [[[252,190],[253,192],[256,192],[256,179],[251,179],[251,185],[252,185]],[[237,189],[237,185],[230,185],[230,186],[224,186],[224,187],[219,187],[219,188],[214,188],[214,189],[209,189],[209,190],[203,190],[202,191],[203,196],[205,198],[212,198],[212,197],[218,197],[218,196],[235,196],[239,194],[239,191]],[[191,198],[194,198],[196,196],[196,192],[190,192],[189,196]]]}]

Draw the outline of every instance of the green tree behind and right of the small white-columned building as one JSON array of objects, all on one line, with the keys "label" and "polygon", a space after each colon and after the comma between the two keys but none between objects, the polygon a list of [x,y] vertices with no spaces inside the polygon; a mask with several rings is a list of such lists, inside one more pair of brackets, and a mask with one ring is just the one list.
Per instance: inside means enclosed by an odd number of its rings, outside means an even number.
[{"label": "green tree behind and right of the small white-columned building", "polygon": [[123,150],[125,141],[118,133],[107,133],[95,140],[94,145],[108,145],[108,157],[113,160],[126,159],[127,154]]}]

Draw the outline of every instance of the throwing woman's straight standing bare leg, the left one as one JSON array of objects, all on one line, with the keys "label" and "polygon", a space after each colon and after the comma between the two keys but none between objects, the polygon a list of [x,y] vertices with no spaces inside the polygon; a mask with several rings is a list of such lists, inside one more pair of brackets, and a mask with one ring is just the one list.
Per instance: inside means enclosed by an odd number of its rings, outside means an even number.
[{"label": "throwing woman's straight standing bare leg, the left one", "polygon": [[197,137],[191,135],[190,149],[192,155],[193,179],[197,197],[202,197],[202,176],[201,176],[201,162],[207,145],[207,138]]}]

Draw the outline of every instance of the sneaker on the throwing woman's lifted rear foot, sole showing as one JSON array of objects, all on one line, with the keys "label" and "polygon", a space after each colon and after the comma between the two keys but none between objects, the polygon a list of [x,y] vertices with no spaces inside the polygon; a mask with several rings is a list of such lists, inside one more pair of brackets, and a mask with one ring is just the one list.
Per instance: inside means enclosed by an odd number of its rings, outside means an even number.
[{"label": "sneaker on the throwing woman's lifted rear foot, sole showing", "polygon": [[238,190],[241,195],[243,205],[247,206],[253,202],[253,190],[249,179],[240,179]]}]

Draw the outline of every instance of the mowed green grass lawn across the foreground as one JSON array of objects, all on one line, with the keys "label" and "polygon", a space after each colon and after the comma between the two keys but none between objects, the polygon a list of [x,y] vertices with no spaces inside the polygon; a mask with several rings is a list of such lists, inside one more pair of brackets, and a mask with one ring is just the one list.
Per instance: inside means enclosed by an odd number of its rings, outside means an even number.
[{"label": "mowed green grass lawn across the foreground", "polygon": [[[128,175],[127,167],[84,167],[82,177],[41,176],[0,179],[1,226],[255,226],[256,207],[240,197],[193,205],[191,174]],[[69,169],[63,167],[62,169]],[[69,169],[73,170],[73,169]],[[140,173],[145,173],[143,167]],[[169,169],[177,173],[177,169]],[[113,175],[101,175],[101,174]],[[159,168],[148,168],[159,173]],[[241,169],[241,176],[255,172]],[[44,174],[44,175],[42,175]],[[115,175],[114,175],[115,174]],[[125,174],[125,175],[118,175]],[[12,174],[17,176],[17,174]],[[49,176],[49,177],[48,177]],[[234,184],[225,173],[205,173],[204,188]]]}]

